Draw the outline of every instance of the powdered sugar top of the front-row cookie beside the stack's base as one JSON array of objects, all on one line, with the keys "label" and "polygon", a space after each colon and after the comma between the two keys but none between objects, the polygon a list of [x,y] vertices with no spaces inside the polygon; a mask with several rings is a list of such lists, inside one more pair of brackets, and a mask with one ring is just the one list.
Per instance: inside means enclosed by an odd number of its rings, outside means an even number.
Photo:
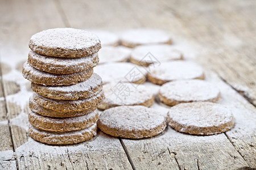
[{"label": "powdered sugar top of the front-row cookie beside the stack's base", "polygon": [[143,106],[121,106],[101,113],[100,122],[110,128],[122,130],[151,130],[162,125],[164,117]]}]

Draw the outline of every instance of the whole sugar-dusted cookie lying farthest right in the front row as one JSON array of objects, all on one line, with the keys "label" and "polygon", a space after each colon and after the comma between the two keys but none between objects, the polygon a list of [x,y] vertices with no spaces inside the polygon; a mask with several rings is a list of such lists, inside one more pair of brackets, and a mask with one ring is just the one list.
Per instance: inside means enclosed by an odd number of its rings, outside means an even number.
[{"label": "whole sugar-dusted cookie lying farthest right in the front row", "polygon": [[213,135],[233,128],[232,112],[221,104],[193,102],[177,104],[168,112],[168,123],[176,131]]}]

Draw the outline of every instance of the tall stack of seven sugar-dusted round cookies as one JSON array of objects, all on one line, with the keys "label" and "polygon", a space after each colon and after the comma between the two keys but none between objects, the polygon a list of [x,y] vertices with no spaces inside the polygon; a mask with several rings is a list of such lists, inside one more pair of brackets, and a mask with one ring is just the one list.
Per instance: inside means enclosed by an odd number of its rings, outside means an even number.
[{"label": "tall stack of seven sugar-dusted round cookies", "polygon": [[23,76],[30,80],[28,133],[36,141],[68,145],[97,133],[102,80],[93,73],[101,42],[93,33],[55,28],[31,37]]}]

